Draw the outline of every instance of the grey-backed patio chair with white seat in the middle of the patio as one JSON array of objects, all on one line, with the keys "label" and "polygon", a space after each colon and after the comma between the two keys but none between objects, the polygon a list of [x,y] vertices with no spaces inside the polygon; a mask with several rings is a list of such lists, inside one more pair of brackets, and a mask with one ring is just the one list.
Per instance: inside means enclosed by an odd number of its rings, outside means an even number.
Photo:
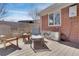
[{"label": "grey-backed patio chair with white seat in the middle of the patio", "polygon": [[[35,48],[36,46],[37,47],[43,46],[44,38],[41,35],[40,30],[39,30],[38,27],[33,27],[32,28],[31,41],[32,41],[31,48],[33,50],[37,49],[37,48]],[[40,45],[38,45],[36,43],[40,43]]]}]

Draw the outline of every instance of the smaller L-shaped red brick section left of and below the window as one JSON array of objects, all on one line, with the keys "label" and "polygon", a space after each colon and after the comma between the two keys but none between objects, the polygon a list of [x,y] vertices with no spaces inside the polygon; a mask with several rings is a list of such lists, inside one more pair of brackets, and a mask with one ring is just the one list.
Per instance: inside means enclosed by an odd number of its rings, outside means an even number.
[{"label": "smaller L-shaped red brick section left of and below the window", "polygon": [[59,26],[48,26],[48,15],[42,16],[42,31],[59,31]]}]

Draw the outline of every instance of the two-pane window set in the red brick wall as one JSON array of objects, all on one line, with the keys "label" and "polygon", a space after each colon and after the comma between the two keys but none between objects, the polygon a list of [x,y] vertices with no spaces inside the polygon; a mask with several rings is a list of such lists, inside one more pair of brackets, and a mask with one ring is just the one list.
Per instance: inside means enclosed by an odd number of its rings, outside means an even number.
[{"label": "two-pane window set in the red brick wall", "polygon": [[48,25],[60,26],[60,13],[49,14]]}]

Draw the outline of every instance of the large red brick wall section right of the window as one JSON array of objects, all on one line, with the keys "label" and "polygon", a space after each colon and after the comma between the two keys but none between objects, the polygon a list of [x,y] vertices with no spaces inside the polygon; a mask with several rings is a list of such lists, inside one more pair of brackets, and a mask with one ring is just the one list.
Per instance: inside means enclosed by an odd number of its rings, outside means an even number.
[{"label": "large red brick wall section right of the window", "polygon": [[79,4],[77,4],[77,16],[69,17],[69,7],[61,9],[61,32],[69,41],[79,43]]}]

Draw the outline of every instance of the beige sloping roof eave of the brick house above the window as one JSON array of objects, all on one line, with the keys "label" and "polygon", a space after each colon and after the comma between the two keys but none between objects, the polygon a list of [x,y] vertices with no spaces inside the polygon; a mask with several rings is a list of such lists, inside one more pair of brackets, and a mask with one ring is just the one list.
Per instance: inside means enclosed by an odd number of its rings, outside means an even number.
[{"label": "beige sloping roof eave of the brick house above the window", "polygon": [[52,12],[54,12],[56,10],[59,10],[61,8],[67,7],[67,6],[72,5],[72,4],[74,4],[74,3],[55,3],[55,4],[52,4],[48,8],[42,10],[40,12],[40,16],[52,13]]}]

